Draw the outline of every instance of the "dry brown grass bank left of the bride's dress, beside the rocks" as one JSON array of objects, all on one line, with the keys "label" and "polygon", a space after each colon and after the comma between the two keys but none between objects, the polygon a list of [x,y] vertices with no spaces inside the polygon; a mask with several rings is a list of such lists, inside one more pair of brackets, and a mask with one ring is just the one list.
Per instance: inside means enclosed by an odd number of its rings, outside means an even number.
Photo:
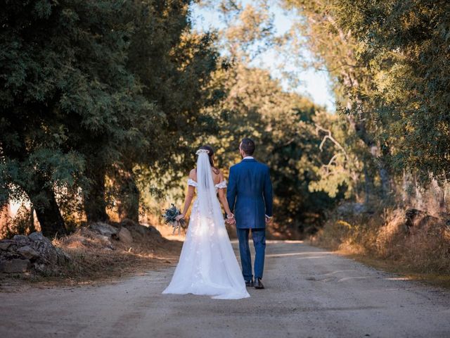
[{"label": "dry brown grass bank left of the bride's dress, beside the rocks", "polygon": [[134,239],[130,245],[108,240],[85,227],[67,237],[53,239],[53,244],[72,258],[61,267],[60,275],[19,275],[1,282],[16,286],[23,282],[35,286],[98,284],[176,264],[181,242],[169,241],[157,233],[143,234],[134,227],[127,228]]}]

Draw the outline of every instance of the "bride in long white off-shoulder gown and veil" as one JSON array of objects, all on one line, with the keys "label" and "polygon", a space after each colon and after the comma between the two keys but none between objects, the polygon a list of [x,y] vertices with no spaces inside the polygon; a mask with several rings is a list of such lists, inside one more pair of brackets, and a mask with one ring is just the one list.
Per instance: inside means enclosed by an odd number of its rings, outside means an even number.
[{"label": "bride in long white off-shoulder gown and veil", "polygon": [[203,294],[214,299],[241,299],[250,297],[245,281],[226,232],[219,200],[227,219],[233,214],[226,201],[226,181],[220,170],[214,168],[214,151],[202,146],[197,153],[197,168],[191,170],[184,210],[184,218],[197,189],[191,211],[186,239],[175,273],[163,294]]}]

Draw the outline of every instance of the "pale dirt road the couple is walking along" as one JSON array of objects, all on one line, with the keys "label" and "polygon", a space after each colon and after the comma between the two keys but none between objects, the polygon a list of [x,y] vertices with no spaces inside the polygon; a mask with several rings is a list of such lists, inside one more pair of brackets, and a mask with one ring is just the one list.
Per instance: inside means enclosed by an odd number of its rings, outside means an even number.
[{"label": "pale dirt road the couple is walking along", "polygon": [[238,301],[163,296],[173,269],[3,292],[0,337],[450,337],[450,292],[301,242],[266,254],[266,289]]}]

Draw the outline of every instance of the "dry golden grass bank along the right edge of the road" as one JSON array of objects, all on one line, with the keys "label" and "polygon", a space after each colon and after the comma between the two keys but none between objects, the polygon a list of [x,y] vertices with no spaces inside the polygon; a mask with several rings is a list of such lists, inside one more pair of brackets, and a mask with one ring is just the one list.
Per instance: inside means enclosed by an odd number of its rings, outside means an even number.
[{"label": "dry golden grass bank along the right edge of the road", "polygon": [[[330,218],[311,244],[413,280],[450,287],[450,227],[424,215],[404,227],[405,211]],[[345,219],[343,219],[345,218]]]}]

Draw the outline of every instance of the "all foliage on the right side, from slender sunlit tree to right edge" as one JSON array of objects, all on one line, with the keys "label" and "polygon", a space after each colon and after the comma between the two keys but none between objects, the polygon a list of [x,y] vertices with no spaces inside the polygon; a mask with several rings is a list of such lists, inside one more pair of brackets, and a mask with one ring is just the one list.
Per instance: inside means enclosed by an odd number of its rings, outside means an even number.
[{"label": "all foliage on the right side, from slender sunlit tree to right edge", "polygon": [[[448,1],[284,1],[342,111],[368,146],[383,192],[407,170],[427,184],[449,175]],[[396,175],[396,177],[392,177]],[[365,174],[365,176],[367,176]],[[390,182],[391,181],[391,182]]]}]

